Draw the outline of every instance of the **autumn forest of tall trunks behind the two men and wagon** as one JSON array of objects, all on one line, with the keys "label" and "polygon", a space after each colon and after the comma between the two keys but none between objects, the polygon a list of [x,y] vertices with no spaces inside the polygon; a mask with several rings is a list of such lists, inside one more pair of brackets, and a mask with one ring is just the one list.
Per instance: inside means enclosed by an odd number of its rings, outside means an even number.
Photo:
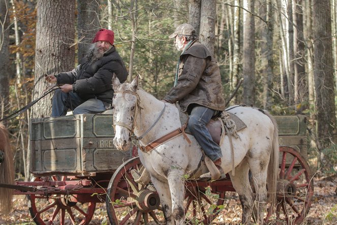
[{"label": "autumn forest of tall trunks behind the two men and wagon", "polygon": [[[335,0],[0,0],[0,118],[40,97],[43,74],[70,71],[96,32],[115,46],[140,86],[161,99],[173,86],[179,52],[168,39],[193,24],[221,70],[229,105],[308,116],[313,172],[336,174]],[[29,118],[48,117],[51,95],[6,121],[17,179],[29,180]]]}]

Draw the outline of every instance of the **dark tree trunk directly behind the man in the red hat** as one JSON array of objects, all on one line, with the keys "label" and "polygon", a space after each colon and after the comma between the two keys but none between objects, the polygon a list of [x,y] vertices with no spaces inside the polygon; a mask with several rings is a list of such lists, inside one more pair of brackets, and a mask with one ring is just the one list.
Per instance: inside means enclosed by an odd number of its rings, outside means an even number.
[{"label": "dark tree trunk directly behind the man in the red hat", "polygon": [[[98,4],[93,0],[77,0],[77,32],[78,32],[78,63],[87,54],[89,44],[93,41],[96,32],[100,29],[100,20],[97,16]],[[108,15],[110,16],[110,15]]]}]

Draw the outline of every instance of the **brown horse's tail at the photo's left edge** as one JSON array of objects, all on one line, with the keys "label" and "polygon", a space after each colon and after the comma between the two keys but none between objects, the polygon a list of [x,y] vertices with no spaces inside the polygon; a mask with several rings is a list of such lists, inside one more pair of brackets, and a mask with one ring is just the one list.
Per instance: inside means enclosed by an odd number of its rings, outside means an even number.
[{"label": "brown horse's tail at the photo's left edge", "polygon": [[[14,183],[14,163],[13,152],[9,143],[8,131],[0,123],[0,153],[2,153],[2,162],[0,163],[0,183]],[[0,188],[0,210],[8,214],[12,208],[13,190],[9,188]]]}]

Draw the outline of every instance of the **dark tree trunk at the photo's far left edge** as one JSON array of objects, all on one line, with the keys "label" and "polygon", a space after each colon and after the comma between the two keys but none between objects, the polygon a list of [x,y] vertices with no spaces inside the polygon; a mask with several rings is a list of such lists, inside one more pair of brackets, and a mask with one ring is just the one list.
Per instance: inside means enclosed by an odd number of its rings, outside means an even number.
[{"label": "dark tree trunk at the photo's far left edge", "polygon": [[0,118],[8,110],[9,96],[9,3],[8,0],[0,1]]}]

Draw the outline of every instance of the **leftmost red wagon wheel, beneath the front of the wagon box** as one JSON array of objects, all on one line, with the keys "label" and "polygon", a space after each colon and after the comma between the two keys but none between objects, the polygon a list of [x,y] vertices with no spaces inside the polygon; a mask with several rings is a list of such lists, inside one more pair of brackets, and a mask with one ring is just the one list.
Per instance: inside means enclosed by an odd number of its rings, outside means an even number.
[{"label": "leftmost red wagon wheel, beneath the front of the wagon box", "polygon": [[[52,176],[53,181],[66,181],[67,176]],[[34,178],[34,181],[41,181]],[[27,195],[30,201],[29,212],[34,221],[39,224],[89,224],[94,215],[96,203],[73,202],[63,194],[42,194]]]}]

